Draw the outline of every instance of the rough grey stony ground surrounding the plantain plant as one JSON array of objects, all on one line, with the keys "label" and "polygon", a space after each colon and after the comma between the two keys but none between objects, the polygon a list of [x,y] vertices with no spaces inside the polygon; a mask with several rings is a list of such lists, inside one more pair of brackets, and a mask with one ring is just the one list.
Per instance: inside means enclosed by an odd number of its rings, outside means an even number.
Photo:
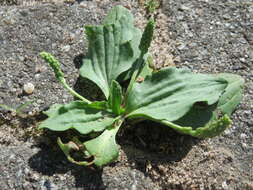
[{"label": "rough grey stony ground surrounding the plantain plant", "polygon": [[[198,140],[151,122],[129,125],[118,135],[118,162],[101,170],[67,162],[55,145],[64,134],[36,130],[45,118],[42,110],[72,99],[38,53],[52,52],[68,82],[96,99],[96,90],[78,79],[87,48],[83,25],[100,23],[119,3],[132,10],[140,27],[147,15],[130,1],[3,2],[11,6],[0,6],[0,104],[35,101],[23,118],[0,110],[0,189],[253,189],[252,0],[165,0],[155,12],[151,50],[158,67],[245,78],[232,127],[220,137]],[[35,85],[32,95],[22,90],[27,82]]]}]

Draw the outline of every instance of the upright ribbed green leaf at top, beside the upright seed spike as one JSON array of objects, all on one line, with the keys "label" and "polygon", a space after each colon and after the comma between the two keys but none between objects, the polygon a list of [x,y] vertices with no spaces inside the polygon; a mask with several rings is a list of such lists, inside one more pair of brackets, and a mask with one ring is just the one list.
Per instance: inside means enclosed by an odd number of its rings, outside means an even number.
[{"label": "upright ribbed green leaf at top, beside the upright seed spike", "polygon": [[89,50],[80,68],[80,75],[96,83],[107,99],[112,81],[139,57],[141,39],[127,9],[117,7],[109,15],[105,25],[85,27]]}]

